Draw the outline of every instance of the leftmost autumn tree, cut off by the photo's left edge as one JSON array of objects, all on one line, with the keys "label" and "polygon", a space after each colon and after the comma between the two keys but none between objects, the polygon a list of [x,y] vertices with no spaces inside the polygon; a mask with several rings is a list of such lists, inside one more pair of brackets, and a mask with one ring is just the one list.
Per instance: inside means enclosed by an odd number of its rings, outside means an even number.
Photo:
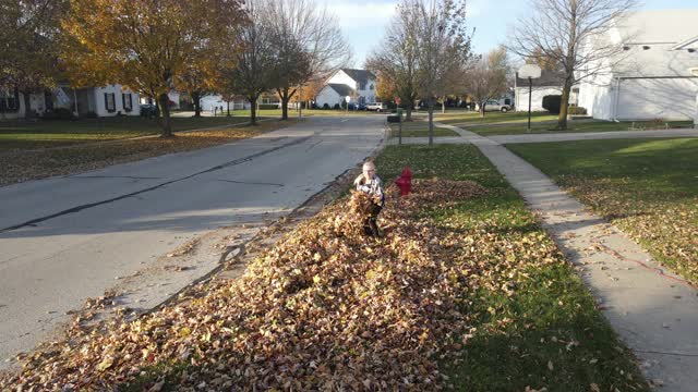
[{"label": "leftmost autumn tree, cut off by the photo's left edge", "polygon": [[0,88],[22,93],[26,119],[31,95],[60,76],[56,40],[64,10],[62,0],[0,0]]}]

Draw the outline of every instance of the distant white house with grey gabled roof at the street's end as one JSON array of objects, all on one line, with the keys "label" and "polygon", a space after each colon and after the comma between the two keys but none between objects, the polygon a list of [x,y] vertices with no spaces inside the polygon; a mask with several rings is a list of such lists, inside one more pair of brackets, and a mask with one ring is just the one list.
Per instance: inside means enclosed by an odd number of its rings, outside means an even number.
[{"label": "distant white house with grey gabled roof at the street's end", "polygon": [[352,103],[375,102],[375,75],[366,70],[341,69],[329,77],[317,93],[315,105],[333,108],[345,102],[346,97],[350,97]]}]

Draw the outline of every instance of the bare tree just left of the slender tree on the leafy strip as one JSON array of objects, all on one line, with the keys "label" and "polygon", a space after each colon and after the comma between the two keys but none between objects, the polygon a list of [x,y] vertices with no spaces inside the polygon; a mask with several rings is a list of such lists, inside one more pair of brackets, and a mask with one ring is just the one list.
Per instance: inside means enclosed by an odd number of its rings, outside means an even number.
[{"label": "bare tree just left of the slender tree on the leafy strip", "polygon": [[377,75],[380,90],[400,98],[400,105],[407,112],[406,121],[412,121],[419,86],[418,13],[410,3],[405,1],[397,7],[382,46],[371,53],[365,63],[365,68]]}]

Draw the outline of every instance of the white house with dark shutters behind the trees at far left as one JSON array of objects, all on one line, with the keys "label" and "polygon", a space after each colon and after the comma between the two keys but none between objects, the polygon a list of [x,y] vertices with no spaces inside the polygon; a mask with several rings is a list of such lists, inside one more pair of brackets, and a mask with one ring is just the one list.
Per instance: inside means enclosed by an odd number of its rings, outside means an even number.
[{"label": "white house with dark shutters behind the trees at far left", "polygon": [[[45,115],[57,109],[65,109],[79,117],[139,115],[139,95],[123,90],[120,85],[105,87],[70,88],[59,84],[29,96],[29,110]],[[5,119],[23,118],[26,108],[24,96],[16,89],[0,89],[0,115]]]}]

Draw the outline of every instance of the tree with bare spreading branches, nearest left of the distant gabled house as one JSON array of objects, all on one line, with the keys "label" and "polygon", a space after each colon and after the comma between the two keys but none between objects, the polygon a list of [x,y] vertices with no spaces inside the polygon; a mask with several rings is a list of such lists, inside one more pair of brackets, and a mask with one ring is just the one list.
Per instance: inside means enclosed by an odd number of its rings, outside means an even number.
[{"label": "tree with bare spreading branches, nearest left of the distant gabled house", "polygon": [[300,85],[326,78],[351,60],[337,17],[314,0],[274,0],[264,8],[276,57],[274,88],[281,98],[281,119]]}]

